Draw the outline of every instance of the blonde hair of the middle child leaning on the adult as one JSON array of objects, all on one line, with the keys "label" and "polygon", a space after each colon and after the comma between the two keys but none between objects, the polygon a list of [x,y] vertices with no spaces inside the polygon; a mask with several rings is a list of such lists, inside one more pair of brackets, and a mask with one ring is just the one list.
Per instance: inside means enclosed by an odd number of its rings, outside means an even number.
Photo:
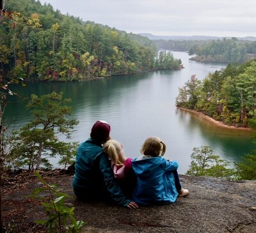
[{"label": "blonde hair of the middle child leaning on the adult", "polygon": [[109,158],[116,164],[116,165],[123,165],[122,162],[120,162],[119,154],[122,151],[123,147],[120,144],[120,142],[110,139],[107,140],[103,147],[103,151],[108,154]]}]

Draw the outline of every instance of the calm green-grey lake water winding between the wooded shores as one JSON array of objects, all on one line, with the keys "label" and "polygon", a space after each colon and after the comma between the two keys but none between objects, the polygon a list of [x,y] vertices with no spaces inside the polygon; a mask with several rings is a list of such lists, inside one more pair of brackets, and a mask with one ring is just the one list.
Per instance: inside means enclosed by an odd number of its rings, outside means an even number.
[{"label": "calm green-grey lake water winding between the wooded shores", "polygon": [[[248,132],[218,128],[193,114],[176,109],[175,98],[179,87],[191,75],[204,79],[209,72],[225,67],[223,64],[204,64],[189,61],[185,52],[173,52],[180,58],[184,69],[179,71],[145,72],[72,83],[31,83],[28,87],[13,87],[22,98],[31,93],[38,95],[52,91],[72,98],[73,116],[79,120],[72,140],[83,142],[97,119],[111,124],[111,137],[124,145],[132,158],[140,156],[140,147],[150,136],[161,137],[166,143],[166,158],[178,160],[179,172],[184,174],[191,162],[193,147],[212,146],[230,162],[239,161],[244,153],[255,147]],[[24,103],[8,105],[6,116],[18,127],[29,120]],[[56,163],[56,160],[52,160]]]}]

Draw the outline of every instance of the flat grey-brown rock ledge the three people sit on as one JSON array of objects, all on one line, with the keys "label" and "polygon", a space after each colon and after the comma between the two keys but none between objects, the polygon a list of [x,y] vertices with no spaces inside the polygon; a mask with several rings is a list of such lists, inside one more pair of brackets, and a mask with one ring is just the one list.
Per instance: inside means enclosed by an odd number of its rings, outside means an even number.
[{"label": "flat grey-brown rock ledge the three people sit on", "polygon": [[[180,175],[180,182],[191,194],[178,198],[174,204],[131,210],[106,202],[88,203],[74,198],[68,201],[68,205],[76,207],[77,220],[87,223],[82,232],[256,232],[256,181],[233,182]],[[54,183],[61,186],[63,192],[74,195],[72,176],[56,177]],[[40,183],[29,183],[24,191],[14,190],[4,195],[6,206],[3,206],[3,214],[10,212],[8,203],[22,202],[24,195],[35,186],[40,186]],[[29,203],[28,208],[23,205],[24,222],[34,222],[36,215],[33,213],[44,215],[40,205],[31,205]],[[15,222],[15,216],[6,217],[4,221]]]}]

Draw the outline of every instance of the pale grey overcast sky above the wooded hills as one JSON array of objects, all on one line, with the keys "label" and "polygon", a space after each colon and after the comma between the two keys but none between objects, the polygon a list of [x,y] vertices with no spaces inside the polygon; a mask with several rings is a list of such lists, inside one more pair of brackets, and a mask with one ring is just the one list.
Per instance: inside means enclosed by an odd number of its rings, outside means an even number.
[{"label": "pale grey overcast sky above the wooded hills", "polygon": [[40,0],[127,33],[256,36],[255,0]]}]

